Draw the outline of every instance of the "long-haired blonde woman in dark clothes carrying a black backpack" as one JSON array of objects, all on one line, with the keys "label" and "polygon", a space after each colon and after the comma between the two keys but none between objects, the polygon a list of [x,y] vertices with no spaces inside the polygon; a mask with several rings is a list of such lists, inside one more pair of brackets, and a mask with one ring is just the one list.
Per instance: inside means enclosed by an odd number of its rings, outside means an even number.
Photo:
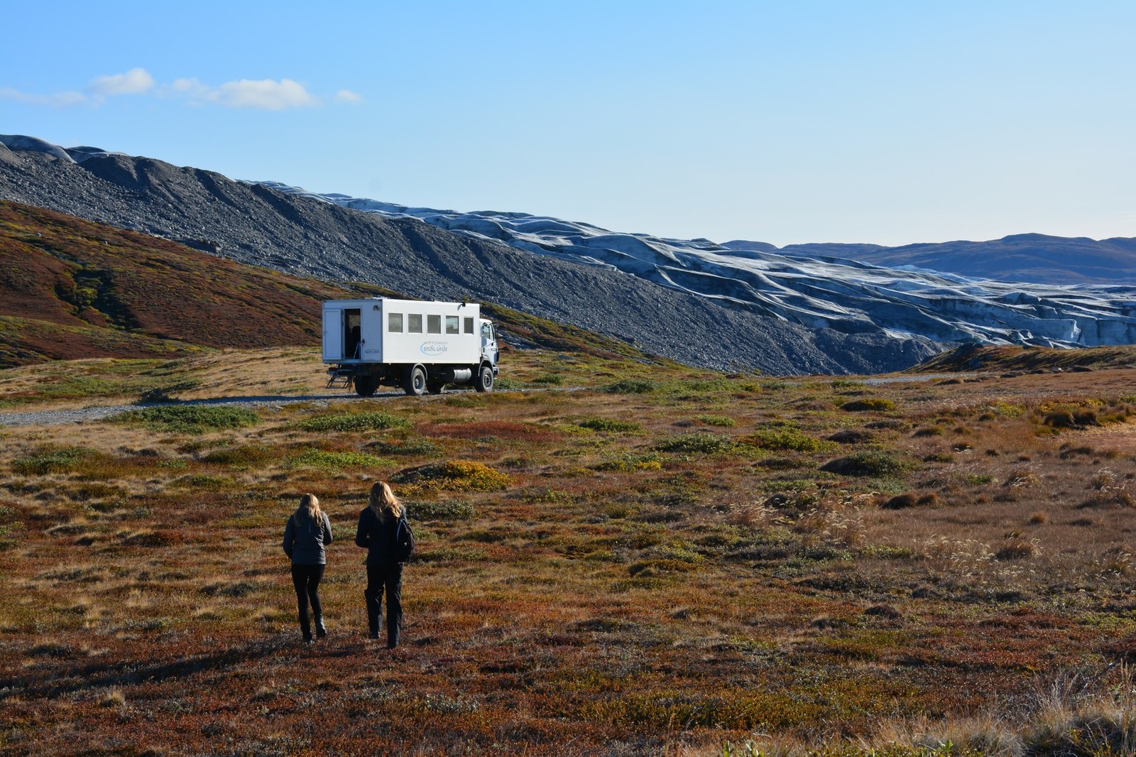
[{"label": "long-haired blonde woman in dark clothes carrying a black backpack", "polygon": [[356,544],[367,550],[367,625],[378,639],[378,618],[386,592],[386,648],[399,646],[402,632],[402,563],[414,549],[407,509],[385,481],[370,488],[370,502],[359,513]]}]

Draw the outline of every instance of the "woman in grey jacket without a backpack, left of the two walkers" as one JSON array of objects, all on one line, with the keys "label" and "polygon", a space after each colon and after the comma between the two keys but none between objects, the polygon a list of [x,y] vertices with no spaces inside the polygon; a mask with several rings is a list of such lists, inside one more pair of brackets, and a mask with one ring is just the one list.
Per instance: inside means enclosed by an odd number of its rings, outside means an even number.
[{"label": "woman in grey jacket without a backpack, left of the two walkers", "polygon": [[300,612],[300,631],[306,643],[311,643],[311,623],[308,619],[308,601],[316,616],[316,637],[327,635],[324,625],[324,608],[319,604],[319,581],[327,565],[325,547],[332,543],[332,522],[327,513],[319,509],[315,494],[300,498],[300,507],[284,526],[284,554],[292,558],[292,584]]}]

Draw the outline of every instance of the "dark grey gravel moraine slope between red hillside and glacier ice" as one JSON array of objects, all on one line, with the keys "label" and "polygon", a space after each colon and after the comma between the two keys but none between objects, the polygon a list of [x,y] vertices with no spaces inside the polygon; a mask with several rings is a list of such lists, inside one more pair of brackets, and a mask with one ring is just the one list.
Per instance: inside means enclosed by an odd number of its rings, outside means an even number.
[{"label": "dark grey gravel moraine slope between red hillside and glacier ice", "polygon": [[412,297],[492,301],[708,367],[878,373],[937,352],[924,338],[809,328],[617,271],[536,256],[415,218],[231,181],[198,168],[0,136],[0,198],[183,240],[241,263]]}]

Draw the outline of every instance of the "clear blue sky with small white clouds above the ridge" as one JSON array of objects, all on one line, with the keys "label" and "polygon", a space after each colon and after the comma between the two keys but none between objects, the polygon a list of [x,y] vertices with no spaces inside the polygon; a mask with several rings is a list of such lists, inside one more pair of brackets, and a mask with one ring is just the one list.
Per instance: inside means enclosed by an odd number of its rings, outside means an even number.
[{"label": "clear blue sky with small white clouds above the ridge", "polygon": [[1134,2],[62,2],[0,133],[715,241],[1136,236]]}]

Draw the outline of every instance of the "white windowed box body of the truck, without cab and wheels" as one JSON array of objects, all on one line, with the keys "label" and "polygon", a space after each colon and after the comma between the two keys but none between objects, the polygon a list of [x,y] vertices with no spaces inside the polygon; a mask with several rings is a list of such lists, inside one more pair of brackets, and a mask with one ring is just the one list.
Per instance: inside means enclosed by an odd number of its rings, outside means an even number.
[{"label": "white windowed box body of the truck, without cab and wheels", "polygon": [[481,306],[391,298],[327,300],[323,359],[343,365],[477,365]]}]

